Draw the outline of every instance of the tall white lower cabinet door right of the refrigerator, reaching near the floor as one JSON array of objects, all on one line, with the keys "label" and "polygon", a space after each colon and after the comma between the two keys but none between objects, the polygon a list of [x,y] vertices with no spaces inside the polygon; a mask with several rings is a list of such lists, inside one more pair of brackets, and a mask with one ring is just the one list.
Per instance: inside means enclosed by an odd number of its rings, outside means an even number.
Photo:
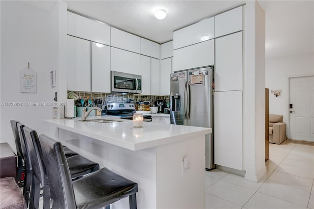
[{"label": "tall white lower cabinet door right of the refrigerator, reaching near the floor", "polygon": [[243,170],[242,91],[214,92],[214,163]]}]

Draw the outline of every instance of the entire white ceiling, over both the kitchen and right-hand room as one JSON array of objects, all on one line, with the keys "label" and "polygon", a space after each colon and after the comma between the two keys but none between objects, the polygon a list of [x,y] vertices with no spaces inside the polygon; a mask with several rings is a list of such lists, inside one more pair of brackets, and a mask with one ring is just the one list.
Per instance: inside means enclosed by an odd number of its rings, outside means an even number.
[{"label": "entire white ceiling, over both the kitchen and right-hand room", "polygon": [[[55,1],[28,1],[49,9]],[[244,0],[65,0],[68,9],[157,43],[173,30],[245,3]],[[259,0],[266,14],[266,58],[314,52],[314,0]],[[157,20],[154,11],[167,11]]]}]

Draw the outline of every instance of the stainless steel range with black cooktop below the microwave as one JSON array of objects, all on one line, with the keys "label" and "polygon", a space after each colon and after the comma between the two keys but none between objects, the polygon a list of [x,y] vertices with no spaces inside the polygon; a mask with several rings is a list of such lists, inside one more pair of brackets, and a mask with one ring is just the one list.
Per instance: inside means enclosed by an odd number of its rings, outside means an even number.
[{"label": "stainless steel range with black cooktop below the microwave", "polygon": [[[121,116],[121,119],[132,120],[133,113],[135,113],[134,103],[107,103],[106,115]],[[143,115],[144,121],[151,122],[151,115]]]}]

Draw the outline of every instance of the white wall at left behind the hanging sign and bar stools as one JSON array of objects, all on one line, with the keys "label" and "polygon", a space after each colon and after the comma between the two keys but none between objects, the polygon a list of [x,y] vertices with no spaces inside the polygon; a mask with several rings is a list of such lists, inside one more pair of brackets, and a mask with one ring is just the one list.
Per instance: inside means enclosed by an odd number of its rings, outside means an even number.
[{"label": "white wall at left behind the hanging sign and bar stools", "polygon": [[[66,5],[64,10],[66,13]],[[1,0],[0,15],[0,102],[54,102],[54,92],[58,90],[58,87],[50,86],[50,71],[56,70],[58,84],[59,8],[54,5],[48,11],[25,1]],[[35,94],[20,92],[20,70],[27,67],[27,62],[37,72],[37,93]],[[38,130],[40,134],[46,132],[41,119],[52,117],[52,106],[1,105],[0,110],[0,141],[8,142],[13,149],[15,149],[15,143],[10,120],[21,121],[26,126]]]}]

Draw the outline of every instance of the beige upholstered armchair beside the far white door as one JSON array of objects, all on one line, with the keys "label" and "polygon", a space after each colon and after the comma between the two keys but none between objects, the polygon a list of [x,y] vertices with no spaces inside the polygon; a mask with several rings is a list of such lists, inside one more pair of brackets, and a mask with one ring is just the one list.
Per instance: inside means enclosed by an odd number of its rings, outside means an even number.
[{"label": "beige upholstered armchair beside the far white door", "polygon": [[286,140],[284,116],[269,114],[269,143],[281,144]]}]

